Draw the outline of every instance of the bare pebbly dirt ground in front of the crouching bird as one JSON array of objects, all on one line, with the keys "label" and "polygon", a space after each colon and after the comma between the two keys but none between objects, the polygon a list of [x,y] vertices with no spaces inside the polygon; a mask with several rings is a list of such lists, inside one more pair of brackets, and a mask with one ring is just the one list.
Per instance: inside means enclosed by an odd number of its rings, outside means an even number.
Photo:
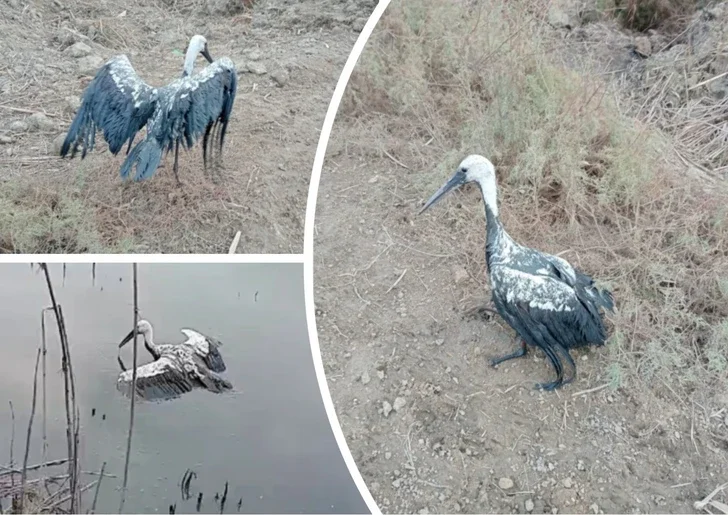
[{"label": "bare pebbly dirt ground in front of the crouching bird", "polygon": [[[454,171],[435,169],[441,134],[363,115],[353,95],[321,176],[315,300],[339,422],[382,511],[704,513],[694,503],[728,480],[725,389],[660,394],[677,383],[621,377],[614,343],[574,352],[577,380],[553,393],[534,389],[553,379],[540,352],[492,368],[515,342],[477,310],[490,297],[478,192],[416,216]],[[501,211],[519,239],[515,194]],[[565,248],[548,232],[522,243]]]}]

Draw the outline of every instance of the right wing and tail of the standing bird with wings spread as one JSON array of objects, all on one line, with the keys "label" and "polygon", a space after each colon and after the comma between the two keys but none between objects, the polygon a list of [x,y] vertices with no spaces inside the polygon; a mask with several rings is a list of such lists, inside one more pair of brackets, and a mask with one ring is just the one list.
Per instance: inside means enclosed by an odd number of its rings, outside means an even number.
[{"label": "right wing and tail of the standing bird with wings spread", "polygon": [[160,90],[147,136],[122,165],[122,178],[128,177],[134,167],[134,180],[151,177],[164,150],[170,151],[180,144],[189,149],[200,137],[203,137],[203,161],[207,164],[211,133],[213,144],[222,150],[237,87],[235,65],[230,59],[222,58],[200,73],[177,79]]}]

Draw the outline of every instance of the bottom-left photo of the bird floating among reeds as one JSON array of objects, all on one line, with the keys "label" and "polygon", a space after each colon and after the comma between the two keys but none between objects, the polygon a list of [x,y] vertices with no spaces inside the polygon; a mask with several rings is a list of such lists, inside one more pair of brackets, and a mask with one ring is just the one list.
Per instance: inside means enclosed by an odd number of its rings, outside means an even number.
[{"label": "bottom-left photo of the bird floating among reeds", "polygon": [[4,264],[0,281],[2,513],[369,512],[321,399],[302,265]]}]

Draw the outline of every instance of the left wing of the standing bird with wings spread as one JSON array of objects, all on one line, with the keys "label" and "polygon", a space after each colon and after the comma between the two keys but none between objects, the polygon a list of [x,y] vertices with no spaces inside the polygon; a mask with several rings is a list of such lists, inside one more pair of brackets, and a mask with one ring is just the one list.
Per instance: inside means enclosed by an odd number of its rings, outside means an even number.
[{"label": "left wing of the standing bird with wings spread", "polygon": [[139,78],[125,55],[110,59],[86,88],[61,147],[61,156],[65,157],[69,150],[71,157],[75,156],[81,145],[81,158],[86,157],[86,152],[94,148],[98,129],[111,153],[118,154],[124,144],[131,145],[136,133],[146,125],[154,112],[156,96],[156,88]]}]

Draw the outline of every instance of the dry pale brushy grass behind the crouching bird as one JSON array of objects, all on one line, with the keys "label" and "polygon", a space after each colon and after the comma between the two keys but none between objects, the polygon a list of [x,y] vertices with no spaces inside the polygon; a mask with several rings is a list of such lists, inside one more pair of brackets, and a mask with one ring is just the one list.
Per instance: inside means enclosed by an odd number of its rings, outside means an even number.
[{"label": "dry pale brushy grass behind the crouching bird", "polygon": [[[420,199],[464,155],[490,157],[511,234],[613,289],[614,385],[637,381],[678,398],[723,389],[725,189],[688,174],[667,137],[621,115],[604,83],[551,62],[542,9],[395,1],[340,116],[380,127],[389,144],[382,150],[418,164],[422,173],[403,182],[415,181]],[[482,214],[475,192],[468,196],[418,225],[429,224],[431,248],[471,256],[471,276],[482,277]]]}]

